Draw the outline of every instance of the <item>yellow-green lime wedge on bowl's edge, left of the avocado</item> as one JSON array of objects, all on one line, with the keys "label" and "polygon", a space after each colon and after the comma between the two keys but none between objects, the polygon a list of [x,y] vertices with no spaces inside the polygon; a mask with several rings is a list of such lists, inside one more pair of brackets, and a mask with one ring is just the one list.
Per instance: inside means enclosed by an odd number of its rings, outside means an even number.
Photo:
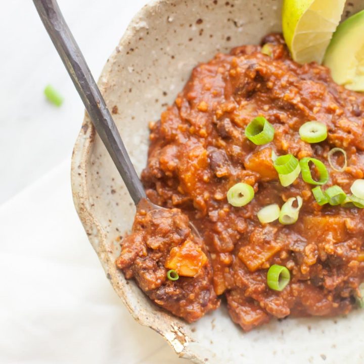
[{"label": "yellow-green lime wedge on bowl's edge, left of the avocado", "polygon": [[296,62],[322,62],[344,5],[345,0],[284,0],[283,35]]}]

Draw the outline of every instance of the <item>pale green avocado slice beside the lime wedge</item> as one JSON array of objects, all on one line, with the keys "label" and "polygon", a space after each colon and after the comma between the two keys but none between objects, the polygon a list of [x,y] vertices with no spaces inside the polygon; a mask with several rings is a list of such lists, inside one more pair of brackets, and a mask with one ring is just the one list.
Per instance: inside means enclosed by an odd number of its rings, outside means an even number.
[{"label": "pale green avocado slice beside the lime wedge", "polygon": [[336,29],[324,58],[334,81],[364,92],[364,10],[342,22]]}]

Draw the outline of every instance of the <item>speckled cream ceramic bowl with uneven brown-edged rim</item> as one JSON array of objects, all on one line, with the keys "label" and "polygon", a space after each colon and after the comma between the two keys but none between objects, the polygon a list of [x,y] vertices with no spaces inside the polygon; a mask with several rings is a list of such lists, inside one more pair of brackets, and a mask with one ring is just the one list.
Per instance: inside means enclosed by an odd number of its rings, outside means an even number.
[{"label": "speckled cream ceramic bowl with uneven brown-edged rim", "polygon": [[[364,0],[351,0],[345,16],[363,8]],[[99,80],[136,169],[146,164],[148,122],[173,102],[194,66],[279,30],[279,0],[159,0],[145,6]],[[188,325],[125,281],[114,261],[135,208],[87,116],[74,148],[72,187],[77,212],[115,291],[135,320],[159,332],[178,355],[215,364],[364,362],[364,314],[359,311],[335,320],[273,320],[244,333],[223,304]]]}]

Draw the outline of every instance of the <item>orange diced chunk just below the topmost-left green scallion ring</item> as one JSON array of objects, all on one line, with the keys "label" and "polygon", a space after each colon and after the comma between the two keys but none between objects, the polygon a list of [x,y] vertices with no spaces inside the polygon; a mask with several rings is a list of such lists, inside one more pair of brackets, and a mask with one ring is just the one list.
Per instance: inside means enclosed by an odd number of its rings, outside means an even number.
[{"label": "orange diced chunk just below the topmost-left green scallion ring", "polygon": [[278,178],[278,173],[271,160],[271,148],[264,148],[247,157],[244,161],[246,169],[258,172],[264,180],[272,180]]}]

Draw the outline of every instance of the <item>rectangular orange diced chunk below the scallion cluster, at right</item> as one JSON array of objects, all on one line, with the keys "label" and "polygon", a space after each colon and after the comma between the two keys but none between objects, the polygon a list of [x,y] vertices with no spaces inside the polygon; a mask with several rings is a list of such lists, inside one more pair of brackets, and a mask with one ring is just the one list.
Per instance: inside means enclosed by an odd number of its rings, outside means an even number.
[{"label": "rectangular orange diced chunk below the scallion cluster, at right", "polygon": [[[320,237],[317,236],[317,231],[320,232]],[[307,240],[329,238],[334,242],[343,242],[347,239],[345,219],[340,216],[304,216],[302,235]]]}]

